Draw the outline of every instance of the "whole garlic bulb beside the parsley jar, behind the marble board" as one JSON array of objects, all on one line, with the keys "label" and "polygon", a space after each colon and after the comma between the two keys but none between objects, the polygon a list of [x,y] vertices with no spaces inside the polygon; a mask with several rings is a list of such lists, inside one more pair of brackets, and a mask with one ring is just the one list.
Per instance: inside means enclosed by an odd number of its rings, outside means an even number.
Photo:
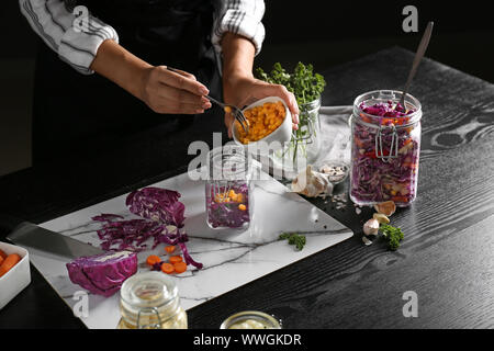
[{"label": "whole garlic bulb beside the parsley jar, behind the marble board", "polygon": [[326,196],[333,193],[333,184],[326,174],[313,171],[312,167],[307,166],[306,170],[292,181],[292,191],[308,197]]}]

